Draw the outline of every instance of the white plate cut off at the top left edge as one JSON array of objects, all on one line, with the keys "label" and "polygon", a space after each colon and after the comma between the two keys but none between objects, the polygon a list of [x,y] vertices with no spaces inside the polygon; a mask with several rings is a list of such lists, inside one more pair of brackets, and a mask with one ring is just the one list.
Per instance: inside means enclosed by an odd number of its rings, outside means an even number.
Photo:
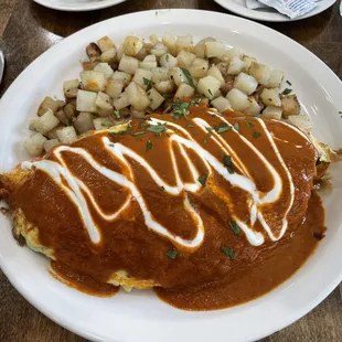
[{"label": "white plate cut off at the top left edge", "polygon": [[53,10],[82,12],[105,9],[126,0],[34,0]]}]

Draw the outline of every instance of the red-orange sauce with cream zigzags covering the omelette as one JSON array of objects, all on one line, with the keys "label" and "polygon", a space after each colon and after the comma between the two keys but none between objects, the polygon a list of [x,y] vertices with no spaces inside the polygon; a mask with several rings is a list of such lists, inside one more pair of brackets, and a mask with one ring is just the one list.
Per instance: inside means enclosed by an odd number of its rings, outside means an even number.
[{"label": "red-orange sauce with cream zigzags covering the omelette", "polygon": [[106,292],[125,270],[178,308],[220,309],[271,290],[317,247],[317,158],[289,125],[193,107],[56,147],[10,202],[74,287]]}]

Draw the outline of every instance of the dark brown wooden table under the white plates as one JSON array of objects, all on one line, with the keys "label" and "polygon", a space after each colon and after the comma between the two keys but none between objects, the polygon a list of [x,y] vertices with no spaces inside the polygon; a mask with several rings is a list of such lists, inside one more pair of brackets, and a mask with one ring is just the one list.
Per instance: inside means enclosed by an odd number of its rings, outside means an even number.
[{"label": "dark brown wooden table under the white plates", "polygon": [[[7,58],[0,96],[34,58],[63,38],[107,18],[157,8],[193,8],[227,12],[212,0],[135,0],[110,9],[83,13],[57,12],[30,0],[0,0],[0,49]],[[266,25],[308,47],[341,78],[342,20],[338,3],[311,19]],[[311,313],[263,341],[342,341],[341,290],[340,285],[340,288]],[[222,340],[224,341],[224,338]],[[35,310],[0,271],[0,341],[54,342],[84,339],[64,330]]]}]

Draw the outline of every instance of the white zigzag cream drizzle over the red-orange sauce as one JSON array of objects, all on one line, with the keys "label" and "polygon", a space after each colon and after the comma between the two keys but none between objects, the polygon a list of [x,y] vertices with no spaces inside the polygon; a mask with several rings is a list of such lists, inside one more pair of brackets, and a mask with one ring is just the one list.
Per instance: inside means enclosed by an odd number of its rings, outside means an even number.
[{"label": "white zigzag cream drizzle over the red-orange sauce", "polygon": [[[274,182],[272,188],[264,193],[257,190],[255,182],[252,180],[252,177],[247,170],[247,167],[244,164],[243,160],[237,156],[237,153],[234,151],[234,149],[231,147],[231,145],[223,139],[221,135],[218,135],[215,130],[212,130],[212,141],[214,141],[215,145],[225,153],[229,154],[232,157],[232,160],[234,161],[234,165],[236,170],[239,171],[239,173],[229,173],[227,171],[227,168],[223,164],[222,161],[217,160],[216,157],[214,157],[212,153],[210,153],[205,148],[203,148],[200,143],[197,143],[193,137],[189,133],[188,130],[185,130],[183,127],[170,122],[164,121],[156,118],[151,118],[150,121],[147,121],[149,125],[159,125],[159,124],[167,124],[168,126],[168,133],[169,133],[169,148],[170,148],[170,156],[173,167],[173,172],[175,175],[175,185],[171,185],[167,183],[159,174],[158,172],[137,152],[128,148],[127,146],[120,143],[120,142],[111,142],[107,137],[101,137],[101,142],[104,148],[106,148],[114,158],[119,160],[126,169],[129,171],[128,175],[124,175],[121,173],[118,173],[114,170],[110,170],[103,164],[100,164],[98,161],[96,161],[93,156],[87,152],[84,148],[75,148],[75,147],[68,147],[68,146],[60,146],[56,147],[52,153],[56,157],[56,161],[52,160],[41,160],[41,161],[34,161],[34,162],[23,162],[22,168],[24,169],[32,169],[33,167],[46,172],[57,184],[58,186],[66,193],[66,195],[70,197],[70,200],[75,204],[75,206],[78,210],[78,213],[84,222],[84,226],[87,229],[87,233],[89,235],[90,241],[94,244],[98,244],[101,242],[101,234],[100,228],[96,224],[96,222],[93,220],[87,201],[85,196],[87,196],[98,213],[105,221],[111,222],[115,221],[122,211],[125,211],[132,199],[137,201],[137,203],[140,206],[140,210],[143,214],[145,223],[149,229],[152,232],[169,238],[174,244],[179,245],[181,248],[186,249],[196,249],[201,246],[204,239],[205,235],[205,227],[203,225],[203,221],[200,216],[200,214],[196,212],[196,210],[193,207],[191,202],[189,201],[189,197],[186,195],[186,192],[195,193],[202,189],[202,184],[199,182],[200,173],[193,162],[191,161],[188,150],[193,150],[199,158],[203,161],[207,169],[209,179],[215,170],[218,174],[221,174],[227,182],[229,182],[233,186],[238,186],[239,189],[246,191],[250,194],[250,201],[247,203],[249,209],[249,222],[243,222],[239,220],[234,213],[232,213],[232,218],[238,224],[238,226],[243,229],[243,232],[246,235],[246,238],[248,242],[254,246],[259,246],[264,243],[265,237],[261,233],[254,231],[253,226],[258,221],[269,238],[271,241],[278,241],[280,239],[287,227],[288,227],[288,221],[287,216],[292,207],[293,200],[295,200],[295,185],[292,182],[291,173],[289,172],[275,141],[272,135],[268,131],[265,122],[261,119],[257,119],[259,127],[263,129],[263,133],[266,136],[270,148],[274,150],[275,154],[277,156],[279,163],[284,170],[284,173],[287,177],[287,182],[289,184],[290,191],[289,191],[289,201],[288,206],[282,215],[281,220],[281,229],[280,233],[275,234],[269,224],[267,223],[267,220],[265,220],[261,206],[265,204],[271,204],[277,202],[282,193],[284,188],[284,181],[279,174],[279,172],[275,169],[274,165],[269,163],[269,161],[265,158],[263,153],[243,135],[239,133],[238,130],[234,128],[224,117],[220,116],[220,119],[225,124],[232,127],[232,132],[234,133],[239,140],[241,143],[244,143],[248,147],[250,150],[250,153],[254,153],[257,156],[259,161],[265,165],[265,168],[268,170],[269,174],[271,175]],[[200,129],[203,131],[207,131],[210,128],[210,125],[207,121],[205,121],[203,118],[193,118],[192,122],[196,125]],[[287,125],[287,124],[285,124]],[[290,126],[290,125],[287,125]],[[290,126],[293,130],[297,130],[292,126]],[[297,130],[299,135],[303,136],[306,139],[308,139],[301,131]],[[181,132],[181,133],[179,133]],[[184,158],[190,174],[191,174],[191,181],[190,182],[183,182],[180,177],[180,170],[179,165],[175,160],[173,145],[178,145],[179,150]],[[116,210],[115,212],[108,214],[104,213],[103,210],[97,204],[92,191],[88,189],[88,186],[76,175],[72,173],[70,170],[67,163],[63,159],[62,152],[72,152],[75,154],[81,156],[84,160],[87,161],[87,163],[90,164],[92,168],[94,168],[98,173],[103,174],[104,177],[108,178],[110,181],[119,184],[122,188],[126,188],[129,191],[129,195],[127,195],[127,199],[125,200],[124,204]],[[192,221],[194,222],[194,225],[196,226],[196,233],[195,236],[192,239],[184,239],[181,236],[172,234],[167,227],[161,225],[153,216],[153,214],[150,212],[142,193],[139,191],[138,186],[133,182],[133,172],[130,163],[127,160],[127,157],[136,160],[142,168],[147,170],[147,172],[150,174],[150,177],[153,179],[153,181],[157,183],[158,186],[163,186],[164,191],[171,195],[182,195],[183,196],[183,204],[185,211],[191,216]],[[66,181],[63,182],[63,180]]]}]

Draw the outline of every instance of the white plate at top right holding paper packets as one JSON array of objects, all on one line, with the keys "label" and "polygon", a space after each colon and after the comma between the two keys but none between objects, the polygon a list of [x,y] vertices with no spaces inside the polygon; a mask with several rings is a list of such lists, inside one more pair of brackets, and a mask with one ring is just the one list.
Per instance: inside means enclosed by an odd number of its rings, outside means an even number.
[{"label": "white plate at top right holding paper packets", "polygon": [[336,0],[318,1],[317,7],[306,15],[299,17],[297,19],[290,19],[289,17],[284,15],[271,8],[249,10],[246,8],[246,0],[214,0],[214,1],[233,13],[261,21],[296,21],[310,18],[325,11],[336,2]]}]

